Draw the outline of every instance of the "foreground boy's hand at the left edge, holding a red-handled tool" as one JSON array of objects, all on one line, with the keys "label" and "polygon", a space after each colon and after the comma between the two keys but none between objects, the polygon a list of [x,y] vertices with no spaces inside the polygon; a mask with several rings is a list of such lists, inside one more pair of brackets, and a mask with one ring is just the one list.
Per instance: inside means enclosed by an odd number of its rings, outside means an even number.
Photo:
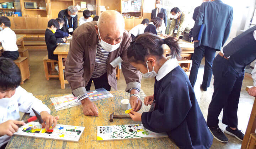
[{"label": "foreground boy's hand at the left edge, holding a red-handled tool", "polygon": [[0,123],[0,136],[7,135],[12,136],[15,132],[18,131],[17,125],[25,125],[22,121],[8,120],[4,123]]}]

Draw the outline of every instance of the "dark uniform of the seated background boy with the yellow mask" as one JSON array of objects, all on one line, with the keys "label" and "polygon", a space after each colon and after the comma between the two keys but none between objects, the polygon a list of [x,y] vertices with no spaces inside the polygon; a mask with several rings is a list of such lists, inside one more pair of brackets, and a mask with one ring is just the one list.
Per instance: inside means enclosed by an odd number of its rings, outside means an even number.
[{"label": "dark uniform of the seated background boy with the yellow mask", "polygon": [[50,29],[46,29],[45,32],[45,40],[46,40],[46,46],[48,51],[48,58],[51,60],[57,60],[58,61],[58,55],[53,54],[53,51],[57,47],[57,43],[63,43],[62,38],[56,38],[53,34],[53,32]]}]

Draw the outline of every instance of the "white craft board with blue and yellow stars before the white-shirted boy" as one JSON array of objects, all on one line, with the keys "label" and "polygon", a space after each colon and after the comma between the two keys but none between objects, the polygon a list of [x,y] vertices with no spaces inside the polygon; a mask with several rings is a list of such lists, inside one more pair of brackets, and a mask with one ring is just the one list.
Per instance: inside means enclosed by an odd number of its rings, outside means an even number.
[{"label": "white craft board with blue and yellow stars before the white-shirted boy", "polygon": [[85,127],[80,126],[56,125],[55,128],[50,127],[50,129],[46,131],[39,122],[29,122],[18,128],[18,131],[15,132],[14,135],[78,142],[84,128]]}]

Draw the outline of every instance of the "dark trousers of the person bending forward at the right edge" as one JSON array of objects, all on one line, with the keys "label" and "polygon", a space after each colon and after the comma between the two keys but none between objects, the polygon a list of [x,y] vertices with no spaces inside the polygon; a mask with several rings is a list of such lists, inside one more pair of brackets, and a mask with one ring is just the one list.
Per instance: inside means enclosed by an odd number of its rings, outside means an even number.
[{"label": "dark trousers of the person bending forward at the right edge", "polygon": [[217,127],[223,109],[222,123],[229,127],[238,126],[238,103],[244,70],[237,72],[228,60],[217,55],[213,61],[214,91],[208,108],[207,125]]}]

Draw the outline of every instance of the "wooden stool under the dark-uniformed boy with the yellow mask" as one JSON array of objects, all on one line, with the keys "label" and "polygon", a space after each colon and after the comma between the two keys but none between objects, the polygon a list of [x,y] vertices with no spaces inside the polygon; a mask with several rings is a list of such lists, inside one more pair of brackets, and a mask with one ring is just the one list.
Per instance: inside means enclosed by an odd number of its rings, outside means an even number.
[{"label": "wooden stool under the dark-uniformed boy with the yellow mask", "polygon": [[54,71],[54,63],[55,62],[58,63],[58,61],[56,61],[56,60],[48,59],[48,55],[46,55],[43,58],[44,73],[45,73],[45,76],[46,76],[47,80],[49,80],[49,78],[59,78],[59,74],[58,75],[52,75],[52,72]]}]

